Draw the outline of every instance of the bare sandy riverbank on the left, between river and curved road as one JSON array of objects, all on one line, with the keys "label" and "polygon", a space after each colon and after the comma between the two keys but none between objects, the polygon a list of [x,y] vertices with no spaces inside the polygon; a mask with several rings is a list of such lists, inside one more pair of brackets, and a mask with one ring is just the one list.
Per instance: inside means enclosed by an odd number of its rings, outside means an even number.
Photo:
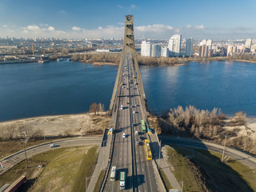
[{"label": "bare sandy riverbank on the left, between river and curved road", "polygon": [[110,116],[106,112],[101,112],[100,115],[88,113],[22,118],[0,122],[0,138],[42,138],[102,134],[109,122]]}]

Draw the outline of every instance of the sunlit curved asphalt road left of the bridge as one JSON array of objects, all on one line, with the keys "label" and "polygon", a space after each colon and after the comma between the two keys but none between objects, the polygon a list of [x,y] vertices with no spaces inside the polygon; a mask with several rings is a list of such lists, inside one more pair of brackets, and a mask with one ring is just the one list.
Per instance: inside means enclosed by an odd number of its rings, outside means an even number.
[{"label": "sunlit curved asphalt road left of the bridge", "polygon": [[[72,139],[62,139],[54,142],[46,142],[42,143],[38,146],[32,146],[26,149],[26,157],[30,158],[35,154],[40,154],[47,150],[54,150],[62,147],[70,147],[70,146],[88,146],[88,145],[99,145],[102,142],[102,137],[85,137],[85,138],[72,138]],[[55,144],[56,147],[50,148],[50,144]],[[25,159],[24,150],[20,150],[15,154],[11,154],[10,156],[3,158],[0,160],[0,174],[13,166],[15,163],[22,161]]]}]

